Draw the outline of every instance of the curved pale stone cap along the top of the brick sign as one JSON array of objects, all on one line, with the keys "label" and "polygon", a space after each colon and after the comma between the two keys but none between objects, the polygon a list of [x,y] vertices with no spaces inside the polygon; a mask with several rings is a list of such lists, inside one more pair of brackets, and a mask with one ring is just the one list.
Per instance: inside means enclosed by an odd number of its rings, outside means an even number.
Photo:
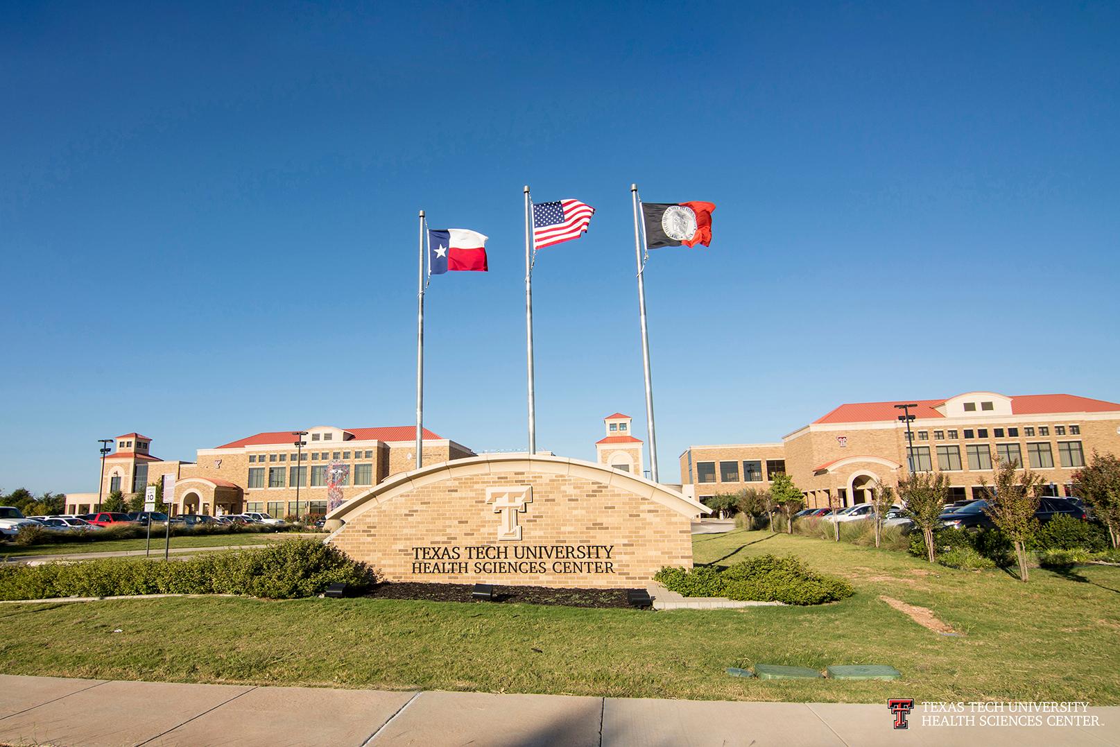
[{"label": "curved pale stone cap along the top of the brick sign", "polygon": [[408,491],[454,477],[508,473],[536,473],[541,475],[584,477],[604,485],[618,487],[643,498],[648,498],[689,519],[711,513],[711,510],[702,503],[698,503],[693,498],[687,497],[674,489],[648,480],[645,477],[638,477],[632,473],[620,471],[606,465],[584,461],[582,459],[569,459],[567,457],[541,454],[530,456],[521,452],[483,454],[476,457],[467,457],[466,459],[441,461],[420,469],[413,469],[412,471],[393,475],[329,512],[326,517],[328,521],[346,519],[356,512],[362,512],[385,501],[391,501]]}]

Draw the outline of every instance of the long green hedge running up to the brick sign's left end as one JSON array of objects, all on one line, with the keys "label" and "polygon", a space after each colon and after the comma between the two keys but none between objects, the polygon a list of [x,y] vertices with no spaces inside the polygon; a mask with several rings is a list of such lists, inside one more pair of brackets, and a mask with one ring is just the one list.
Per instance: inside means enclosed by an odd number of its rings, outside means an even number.
[{"label": "long green hedge running up to the brick sign's left end", "polygon": [[319,594],[336,581],[364,587],[376,578],[367,566],[351,560],[334,545],[288,540],[184,561],[106,558],[0,567],[0,599],[134,594],[237,594],[292,599]]}]

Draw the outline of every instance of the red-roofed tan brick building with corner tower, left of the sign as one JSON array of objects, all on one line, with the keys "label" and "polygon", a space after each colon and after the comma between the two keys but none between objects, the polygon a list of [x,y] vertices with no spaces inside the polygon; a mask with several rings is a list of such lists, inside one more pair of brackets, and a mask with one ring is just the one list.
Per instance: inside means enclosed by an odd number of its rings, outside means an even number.
[{"label": "red-roofed tan brick building with corner tower, left of the sign", "polygon": [[[256,433],[213,449],[198,449],[195,461],[164,460],[151,455],[151,439],[127,433],[105,457],[102,491],[109,495],[143,493],[147,485],[174,480],[165,495],[171,513],[230,514],[261,511],[273,516],[324,515],[332,465],[344,465],[343,498],[367,492],[390,475],[416,467],[416,428],[308,428],[297,449],[293,431]],[[430,430],[423,431],[423,464],[474,456],[474,451]],[[297,456],[299,457],[297,459]],[[95,510],[96,496],[67,498],[67,513]]]}]

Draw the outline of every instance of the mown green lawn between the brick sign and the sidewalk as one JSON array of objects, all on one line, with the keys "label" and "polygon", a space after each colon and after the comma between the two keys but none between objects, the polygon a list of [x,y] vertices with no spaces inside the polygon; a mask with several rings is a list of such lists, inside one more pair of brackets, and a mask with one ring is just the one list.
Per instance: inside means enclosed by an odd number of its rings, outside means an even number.
[{"label": "mown green lawn between the brick sign and the sidewalk", "polygon": [[[699,535],[694,548],[698,562],[795,553],[844,575],[857,594],[820,607],[666,613],[373,599],[0,605],[0,662],[9,674],[181,682],[1120,703],[1118,568],[1035,570],[1023,585],[1002,571],[958,571],[903,553],[766,532]],[[965,635],[936,635],[879,595],[928,607]],[[763,682],[724,673],[758,662],[885,663],[904,680]]]}]

